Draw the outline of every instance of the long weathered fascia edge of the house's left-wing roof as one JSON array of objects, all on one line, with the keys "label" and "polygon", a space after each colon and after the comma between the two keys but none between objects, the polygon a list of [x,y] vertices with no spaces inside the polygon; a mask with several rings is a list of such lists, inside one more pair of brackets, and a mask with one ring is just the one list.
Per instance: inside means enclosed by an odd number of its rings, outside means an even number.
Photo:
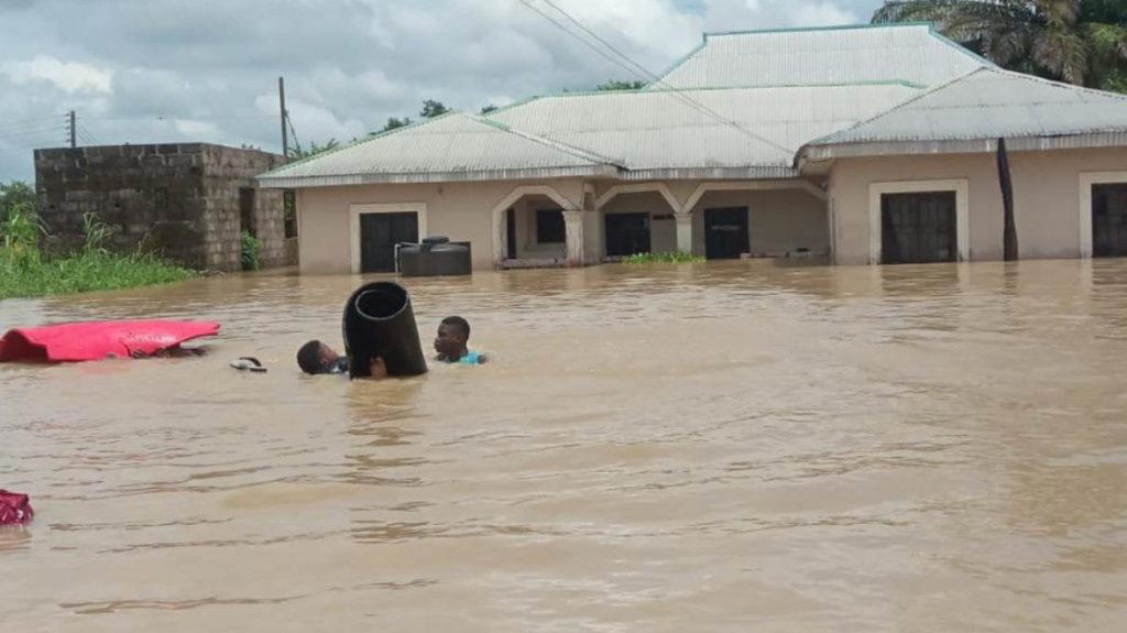
[{"label": "long weathered fascia edge of the house's left-wing roof", "polygon": [[613,164],[550,167],[535,169],[485,169],[477,171],[427,171],[405,173],[336,173],[326,176],[259,176],[264,189],[300,189],[305,187],[347,187],[356,185],[411,185],[428,182],[480,182],[485,180],[532,180],[544,178],[619,176]]}]

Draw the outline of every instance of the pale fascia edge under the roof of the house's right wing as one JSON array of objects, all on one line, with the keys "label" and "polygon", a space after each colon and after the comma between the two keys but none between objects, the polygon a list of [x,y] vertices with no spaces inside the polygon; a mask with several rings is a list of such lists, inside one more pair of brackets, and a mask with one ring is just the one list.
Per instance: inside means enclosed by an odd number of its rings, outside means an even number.
[{"label": "pale fascia edge under the roof of the house's right wing", "polygon": [[[1127,130],[1063,134],[1055,136],[1003,136],[1011,152],[1084,150],[1127,146]],[[951,139],[939,141],[872,141],[807,145],[798,162],[840,158],[893,157],[921,154],[974,154],[997,151],[997,139]]]}]

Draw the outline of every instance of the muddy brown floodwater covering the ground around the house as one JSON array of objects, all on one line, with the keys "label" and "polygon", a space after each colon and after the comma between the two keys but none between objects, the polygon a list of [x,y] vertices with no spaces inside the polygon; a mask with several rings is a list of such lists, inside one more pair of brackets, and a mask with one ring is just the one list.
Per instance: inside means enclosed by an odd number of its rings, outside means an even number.
[{"label": "muddy brown floodwater covering the ground around the house", "polygon": [[361,280],[0,303],[223,323],[0,366],[3,630],[1124,630],[1127,260],[405,279],[492,363],[299,375]]}]

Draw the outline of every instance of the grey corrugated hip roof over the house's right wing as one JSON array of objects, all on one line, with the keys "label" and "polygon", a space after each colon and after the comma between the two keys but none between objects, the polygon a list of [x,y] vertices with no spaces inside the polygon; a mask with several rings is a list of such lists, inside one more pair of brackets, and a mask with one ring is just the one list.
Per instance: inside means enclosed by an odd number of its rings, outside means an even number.
[{"label": "grey corrugated hip roof over the house's right wing", "polygon": [[[999,137],[1102,135],[1099,142],[1107,144],[1109,133],[1121,132],[1127,132],[1125,96],[988,68],[818,139],[805,153],[811,159],[863,155],[863,149],[842,146],[889,143],[931,143],[926,145],[931,151],[943,151],[934,143]],[[1075,145],[1075,141],[1070,143]],[[891,153],[893,149],[873,146],[869,153]]]}]

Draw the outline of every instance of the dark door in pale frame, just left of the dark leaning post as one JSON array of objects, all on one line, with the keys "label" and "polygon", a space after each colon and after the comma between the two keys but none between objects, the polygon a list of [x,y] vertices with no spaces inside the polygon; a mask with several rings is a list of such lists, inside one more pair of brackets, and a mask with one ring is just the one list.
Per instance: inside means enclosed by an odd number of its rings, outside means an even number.
[{"label": "dark door in pale frame, just left of the dark leaning post", "polygon": [[955,191],[881,196],[881,264],[957,261],[955,199]]}]

